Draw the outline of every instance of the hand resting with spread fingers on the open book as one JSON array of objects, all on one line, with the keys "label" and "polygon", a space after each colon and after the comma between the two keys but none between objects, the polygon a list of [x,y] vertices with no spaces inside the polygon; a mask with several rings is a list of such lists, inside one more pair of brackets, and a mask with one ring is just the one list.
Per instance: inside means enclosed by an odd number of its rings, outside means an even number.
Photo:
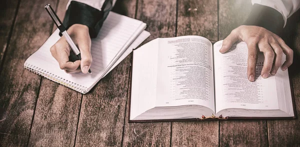
[{"label": "hand resting with spread fingers on the open book", "polygon": [[233,43],[241,40],[246,42],[248,47],[247,76],[249,81],[254,81],[255,67],[258,52],[263,52],[264,62],[261,70],[262,78],[267,78],[268,74],[276,74],[281,66],[282,53],[286,55],[286,60],[281,69],[284,71],[292,63],[293,51],[276,34],[259,26],[241,25],[231,31],[223,40],[219,52],[225,53]]}]

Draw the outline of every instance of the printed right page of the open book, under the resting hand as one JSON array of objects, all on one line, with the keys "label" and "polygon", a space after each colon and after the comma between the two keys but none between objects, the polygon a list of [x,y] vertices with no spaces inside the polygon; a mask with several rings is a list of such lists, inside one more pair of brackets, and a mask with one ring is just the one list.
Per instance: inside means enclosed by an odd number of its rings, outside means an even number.
[{"label": "printed right page of the open book, under the resting hand", "polygon": [[222,41],[213,45],[216,112],[228,108],[278,109],[275,76],[269,75],[266,79],[260,76],[263,54],[258,55],[256,80],[250,82],[247,79],[248,48],[246,43],[233,44],[231,49],[224,54],[218,51],[221,45]]}]

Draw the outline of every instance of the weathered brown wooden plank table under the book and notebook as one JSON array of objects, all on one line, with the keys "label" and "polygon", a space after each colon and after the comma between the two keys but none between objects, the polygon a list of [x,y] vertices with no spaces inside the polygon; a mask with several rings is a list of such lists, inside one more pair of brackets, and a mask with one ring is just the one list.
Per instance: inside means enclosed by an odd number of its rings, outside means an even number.
[{"label": "weathered brown wooden plank table under the book and notebook", "polygon": [[[68,0],[1,0],[0,147],[13,146],[300,146],[300,120],[128,123],[132,54],[85,95],[42,78],[23,63],[56,28],[44,10],[62,19]],[[189,10],[190,8],[190,10]],[[151,36],[201,35],[224,39],[242,24],[250,0],[119,0],[115,11],[147,23]],[[299,12],[282,38],[294,49],[290,76],[300,116]]]}]

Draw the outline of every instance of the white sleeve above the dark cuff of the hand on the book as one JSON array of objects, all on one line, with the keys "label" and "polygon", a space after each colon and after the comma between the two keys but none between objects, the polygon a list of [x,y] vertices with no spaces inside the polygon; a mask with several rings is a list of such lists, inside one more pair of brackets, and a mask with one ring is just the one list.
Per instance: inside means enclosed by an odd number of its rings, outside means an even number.
[{"label": "white sleeve above the dark cuff of the hand on the book", "polygon": [[283,16],[284,26],[286,19],[300,7],[300,0],[252,0],[252,4],[254,3],[272,7],[280,12]]}]

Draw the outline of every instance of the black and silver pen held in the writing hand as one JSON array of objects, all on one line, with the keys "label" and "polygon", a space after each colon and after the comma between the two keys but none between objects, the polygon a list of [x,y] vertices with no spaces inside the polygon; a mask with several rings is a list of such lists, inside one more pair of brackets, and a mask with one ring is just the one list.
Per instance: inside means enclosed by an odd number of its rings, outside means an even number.
[{"label": "black and silver pen held in the writing hand", "polygon": [[[66,32],[65,27],[63,26],[63,24],[61,23],[61,21],[57,17],[57,15],[54,12],[54,10],[52,9],[51,5],[50,4],[46,4],[45,5],[45,9],[47,10],[48,14],[50,15],[50,17],[54,21],[55,25],[57,26],[57,28],[59,29],[59,31],[61,32],[61,34],[64,36],[66,42],[70,45],[72,51],[75,53],[75,55],[77,56],[77,58],[79,60],[81,60],[79,49],[77,48],[77,46],[75,45],[75,43],[73,42],[73,40],[71,39],[71,37]],[[88,72],[91,73],[90,69],[88,69]]]}]

